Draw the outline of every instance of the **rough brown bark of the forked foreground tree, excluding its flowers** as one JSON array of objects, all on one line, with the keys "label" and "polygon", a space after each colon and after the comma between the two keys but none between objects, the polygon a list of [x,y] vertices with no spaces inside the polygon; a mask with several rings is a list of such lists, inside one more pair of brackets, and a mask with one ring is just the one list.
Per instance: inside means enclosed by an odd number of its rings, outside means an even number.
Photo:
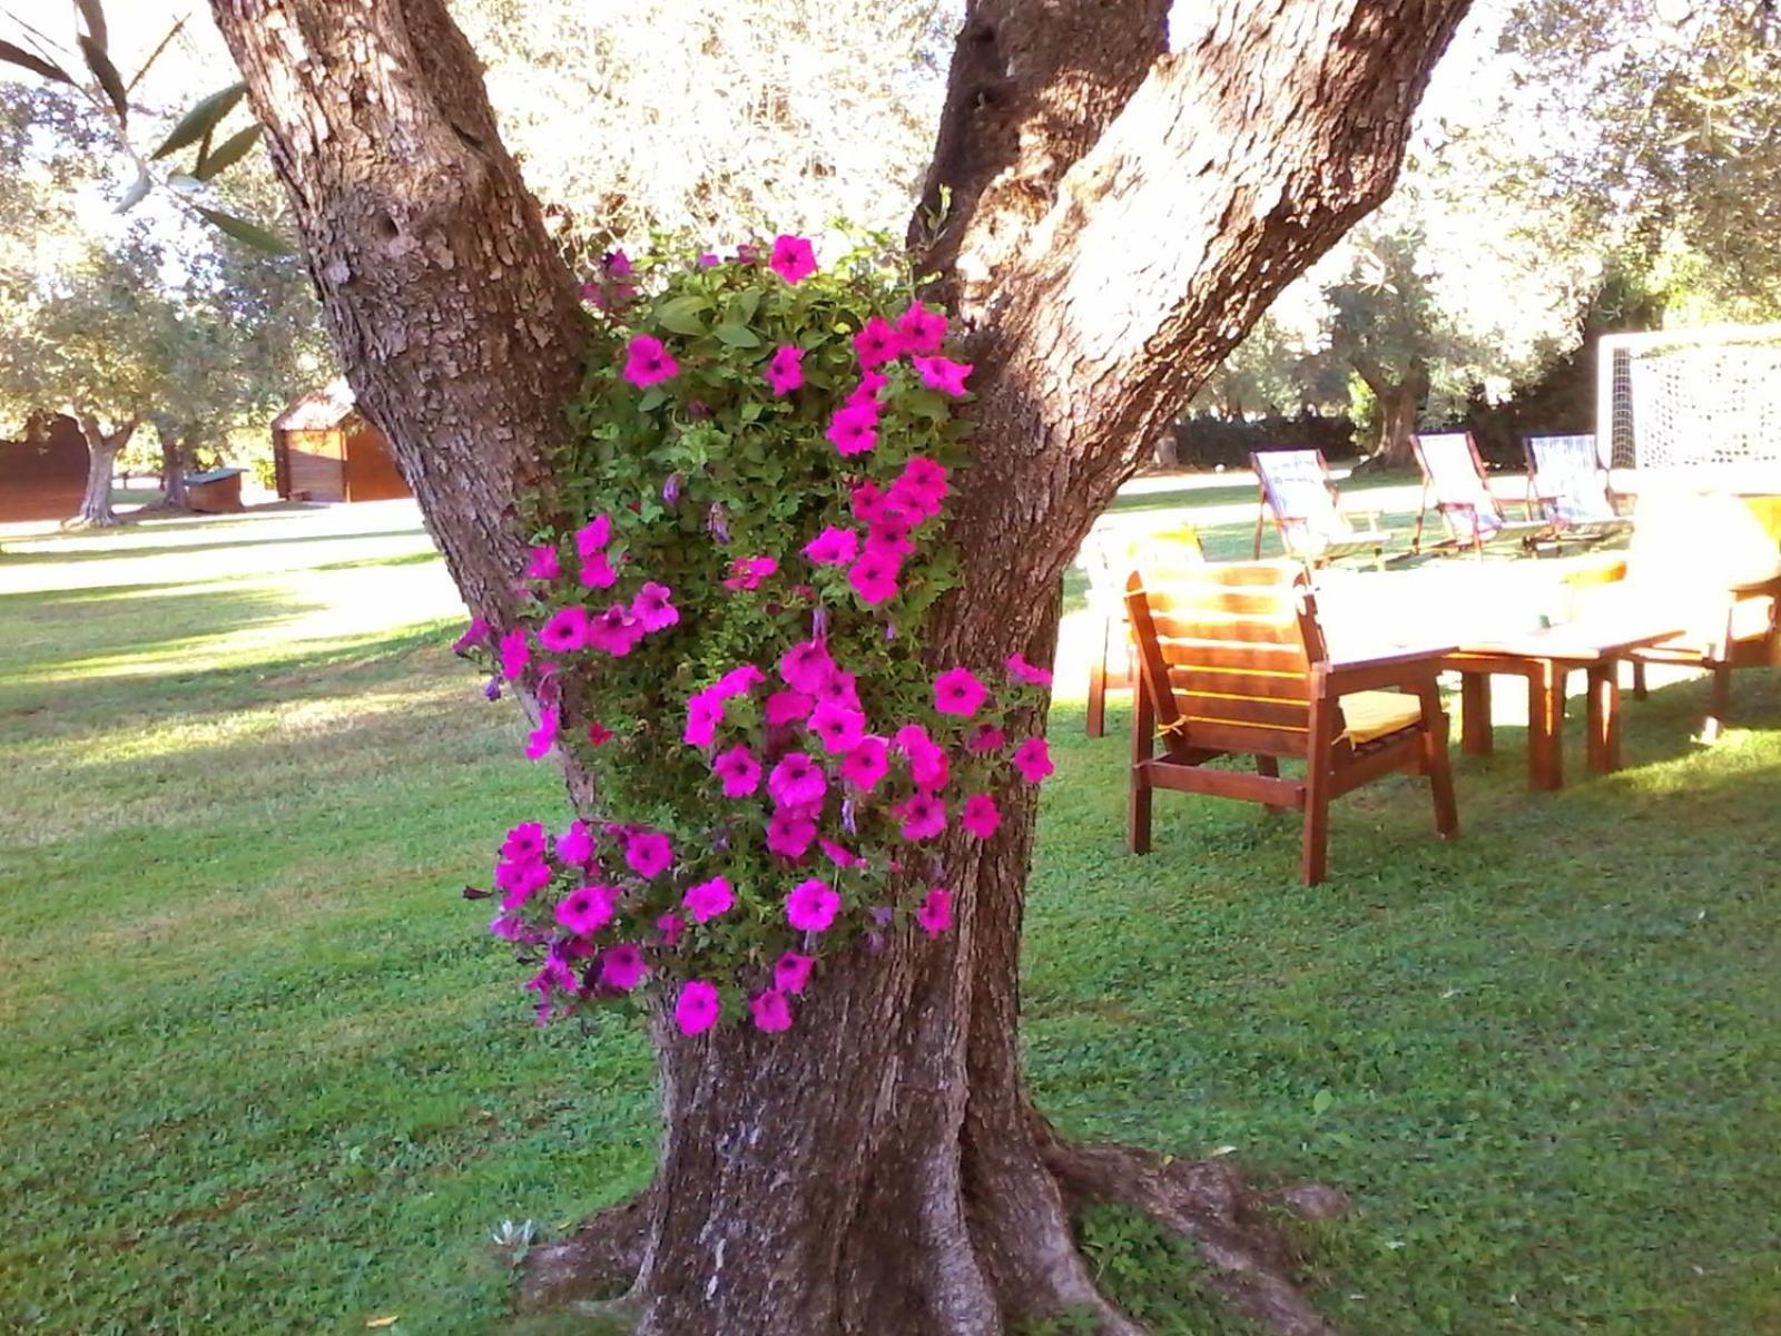
[{"label": "rough brown bark of the forked foreground tree, excluding its flowers", "polygon": [[[360,403],[467,602],[504,625],[515,497],[549,486],[579,340],[573,278],[476,57],[442,0],[212,7]],[[980,394],[965,584],[935,663],[1049,656],[1090,520],[1272,296],[1389,189],[1466,7],[1225,0],[1170,55],[1161,0],[967,5],[912,224]],[[955,932],[832,971],[796,1042],[655,1026],[654,1188],[536,1254],[538,1290],[609,1272],[638,1331],[663,1336],[996,1336],[1072,1306],[1134,1332],[1069,1224],[1079,1195],[1126,1195],[1195,1231],[1238,1304],[1325,1331],[1227,1177],[1063,1145],[1033,1112],[1015,1047],[1033,800],[1001,798],[988,846],[944,850]]]}]

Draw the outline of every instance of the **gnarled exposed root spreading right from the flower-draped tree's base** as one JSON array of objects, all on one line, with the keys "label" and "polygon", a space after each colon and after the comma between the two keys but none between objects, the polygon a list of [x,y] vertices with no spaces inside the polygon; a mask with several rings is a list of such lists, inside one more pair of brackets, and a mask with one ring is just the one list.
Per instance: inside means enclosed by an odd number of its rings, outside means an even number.
[{"label": "gnarled exposed root spreading right from the flower-draped tree's base", "polygon": [[1209,1288],[1240,1313],[1281,1336],[1336,1336],[1336,1327],[1298,1293],[1293,1250],[1266,1220],[1266,1199],[1232,1165],[1061,1142],[1047,1145],[1045,1163],[1074,1202],[1133,1206],[1191,1238],[1215,1268]]}]

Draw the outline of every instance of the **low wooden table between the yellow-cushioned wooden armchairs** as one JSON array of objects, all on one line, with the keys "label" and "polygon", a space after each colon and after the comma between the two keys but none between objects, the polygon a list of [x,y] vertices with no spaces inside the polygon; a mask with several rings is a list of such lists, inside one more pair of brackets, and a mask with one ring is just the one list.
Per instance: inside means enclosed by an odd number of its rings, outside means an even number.
[{"label": "low wooden table between the yellow-cushioned wooden armchairs", "polygon": [[1621,768],[1621,659],[1646,645],[1681,632],[1679,625],[1630,622],[1587,623],[1530,631],[1521,636],[1464,645],[1441,659],[1460,673],[1460,746],[1489,755],[1491,675],[1528,682],[1528,787],[1564,787],[1564,688],[1578,668],[1589,673],[1589,770],[1606,775]]}]

